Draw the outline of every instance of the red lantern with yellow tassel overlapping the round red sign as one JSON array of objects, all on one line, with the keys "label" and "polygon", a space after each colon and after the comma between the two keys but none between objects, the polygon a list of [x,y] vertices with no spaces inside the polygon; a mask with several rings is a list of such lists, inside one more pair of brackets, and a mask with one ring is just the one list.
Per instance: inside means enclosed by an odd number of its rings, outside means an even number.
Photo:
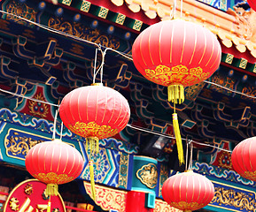
[{"label": "red lantern with yellow tassel overlapping the round red sign", "polygon": [[47,184],[46,196],[58,195],[58,185],[77,178],[83,163],[80,152],[61,140],[36,144],[28,151],[25,161],[27,171]]}]

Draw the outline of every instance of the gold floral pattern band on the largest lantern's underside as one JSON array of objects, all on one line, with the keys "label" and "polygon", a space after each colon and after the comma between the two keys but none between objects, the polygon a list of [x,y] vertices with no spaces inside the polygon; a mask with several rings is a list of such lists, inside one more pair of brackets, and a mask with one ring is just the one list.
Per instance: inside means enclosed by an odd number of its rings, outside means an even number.
[{"label": "gold floral pattern band on the largest lantern's underside", "polygon": [[182,64],[172,68],[159,64],[155,70],[146,69],[145,73],[147,79],[166,87],[174,83],[186,87],[192,84],[197,84],[209,77],[209,72],[204,72],[199,66],[188,69]]}]

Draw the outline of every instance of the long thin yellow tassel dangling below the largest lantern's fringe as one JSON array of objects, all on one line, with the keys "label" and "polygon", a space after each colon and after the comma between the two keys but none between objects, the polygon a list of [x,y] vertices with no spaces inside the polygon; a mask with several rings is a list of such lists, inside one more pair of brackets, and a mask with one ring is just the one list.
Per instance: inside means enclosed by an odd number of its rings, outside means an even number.
[{"label": "long thin yellow tassel dangling below the largest lantern's fringe", "polygon": [[184,163],[182,137],[181,137],[180,127],[178,123],[178,116],[176,113],[173,113],[173,127],[175,131],[175,138],[176,138],[176,144],[177,144],[177,150],[178,150],[178,159],[179,159],[180,165],[182,165],[182,163]]}]

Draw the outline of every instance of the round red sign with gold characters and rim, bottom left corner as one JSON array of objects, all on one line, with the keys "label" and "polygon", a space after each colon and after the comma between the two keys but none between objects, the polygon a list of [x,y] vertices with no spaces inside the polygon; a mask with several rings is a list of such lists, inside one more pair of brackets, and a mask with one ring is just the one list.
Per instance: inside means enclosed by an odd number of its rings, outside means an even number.
[{"label": "round red sign with gold characters and rim, bottom left corner", "polygon": [[[30,191],[27,193],[27,191]],[[44,211],[48,208],[48,198],[45,197],[46,185],[38,179],[28,179],[12,189],[4,204],[4,212]],[[61,196],[52,196],[54,211],[66,212]]]}]

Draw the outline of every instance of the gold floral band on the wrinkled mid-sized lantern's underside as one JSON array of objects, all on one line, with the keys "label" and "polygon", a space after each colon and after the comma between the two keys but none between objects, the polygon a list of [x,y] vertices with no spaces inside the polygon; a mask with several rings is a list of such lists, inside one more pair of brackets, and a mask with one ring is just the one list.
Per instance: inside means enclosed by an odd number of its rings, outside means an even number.
[{"label": "gold floral band on the wrinkled mid-sized lantern's underside", "polygon": [[95,136],[99,140],[112,137],[118,133],[118,129],[112,129],[110,125],[97,125],[94,121],[88,124],[76,122],[75,125],[68,125],[68,128],[81,137],[88,138]]}]

